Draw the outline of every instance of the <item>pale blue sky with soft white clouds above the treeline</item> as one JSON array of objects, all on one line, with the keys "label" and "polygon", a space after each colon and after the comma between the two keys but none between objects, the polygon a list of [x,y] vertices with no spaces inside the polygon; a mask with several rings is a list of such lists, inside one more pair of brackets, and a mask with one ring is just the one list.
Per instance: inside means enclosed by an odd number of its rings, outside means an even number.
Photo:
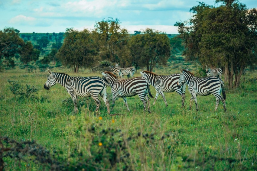
[{"label": "pale blue sky with soft white clouds above the treeline", "polygon": [[[198,0],[214,5],[215,0]],[[188,20],[197,0],[0,0],[0,30],[14,27],[21,33],[59,33],[66,28],[89,30],[98,21],[117,18],[130,34],[152,28],[178,34],[176,21]],[[257,8],[257,0],[241,0]]]}]

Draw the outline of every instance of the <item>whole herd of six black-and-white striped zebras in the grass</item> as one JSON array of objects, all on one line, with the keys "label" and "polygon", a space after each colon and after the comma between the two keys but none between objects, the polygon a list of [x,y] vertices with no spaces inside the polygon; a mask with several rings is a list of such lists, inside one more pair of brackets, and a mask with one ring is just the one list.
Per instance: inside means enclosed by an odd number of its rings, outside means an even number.
[{"label": "whole herd of six black-and-white striped zebras in the grass", "polygon": [[[220,72],[221,71],[221,72]],[[156,90],[156,95],[153,105],[159,95],[163,98],[163,101],[168,106],[164,92],[177,92],[182,98],[182,106],[184,106],[185,101],[185,89],[188,85],[188,90],[191,94],[190,98],[190,109],[191,104],[194,99],[196,111],[198,111],[197,105],[197,95],[206,96],[214,95],[216,97],[215,110],[222,101],[224,111],[226,111],[226,94],[224,90],[224,82],[221,79],[222,70],[221,69],[210,69],[206,67],[206,73],[208,77],[199,78],[194,76],[193,73],[188,71],[188,69],[180,69],[181,74],[171,74],[171,75],[157,75],[149,71],[142,71],[141,77],[134,77],[130,79],[121,79],[124,75],[133,77],[135,68],[120,68],[118,64],[112,68],[111,72],[105,71],[101,72],[102,78],[98,76],[92,77],[73,77],[64,73],[54,73],[48,70],[49,76],[47,77],[47,82],[44,84],[44,89],[49,89],[56,83],[61,84],[66,88],[67,92],[70,94],[73,104],[74,111],[78,111],[77,107],[77,97],[92,97],[96,102],[95,113],[98,113],[100,103],[99,95],[105,102],[107,107],[107,112],[110,114],[112,111],[115,100],[117,97],[122,97],[127,110],[129,111],[127,98],[138,95],[142,101],[144,107],[143,111],[150,113],[150,98],[154,98],[150,92],[150,85],[152,85]],[[220,74],[221,73],[221,74]],[[220,77],[217,77],[220,76]],[[111,87],[112,91],[112,106],[110,109],[109,101],[107,99],[106,89],[107,86]],[[223,96],[221,96],[221,92]]]}]

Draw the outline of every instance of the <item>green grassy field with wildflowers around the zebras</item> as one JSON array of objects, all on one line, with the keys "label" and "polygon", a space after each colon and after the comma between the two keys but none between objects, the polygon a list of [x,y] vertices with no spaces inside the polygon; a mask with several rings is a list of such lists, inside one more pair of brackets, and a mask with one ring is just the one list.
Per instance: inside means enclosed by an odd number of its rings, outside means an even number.
[{"label": "green grassy field with wildflowers around the zebras", "polygon": [[[155,73],[179,73],[179,65],[161,67],[155,69]],[[189,63],[183,67],[187,66],[193,73],[198,72],[198,66]],[[88,70],[77,75],[62,67],[51,70],[70,76],[100,76]],[[135,76],[139,76],[138,73]],[[15,140],[36,140],[58,160],[68,162],[71,170],[257,169],[256,70],[242,78],[239,89],[226,89],[227,112],[223,111],[222,104],[214,112],[212,95],[197,96],[199,111],[195,111],[194,105],[188,110],[190,95],[186,89],[184,108],[181,108],[181,96],[173,92],[165,93],[167,108],[159,97],[155,106],[151,99],[151,114],[143,113],[142,102],[134,96],[127,98],[130,112],[120,98],[112,115],[107,115],[101,100],[100,117],[93,114],[96,105],[91,98],[79,98],[79,113],[74,114],[70,96],[61,85],[50,90],[43,88],[47,76],[47,71],[28,73],[26,69],[0,74],[0,135]],[[35,86],[38,100],[15,97],[8,79]],[[107,90],[110,100],[110,88]],[[153,87],[151,93],[155,96]],[[106,131],[109,133],[104,134]],[[121,141],[126,144],[125,149],[114,147]],[[120,162],[113,164],[114,156],[120,158]],[[33,156],[26,159],[16,161],[5,157],[5,169],[50,169],[34,163]],[[87,164],[78,166],[78,162]]]}]

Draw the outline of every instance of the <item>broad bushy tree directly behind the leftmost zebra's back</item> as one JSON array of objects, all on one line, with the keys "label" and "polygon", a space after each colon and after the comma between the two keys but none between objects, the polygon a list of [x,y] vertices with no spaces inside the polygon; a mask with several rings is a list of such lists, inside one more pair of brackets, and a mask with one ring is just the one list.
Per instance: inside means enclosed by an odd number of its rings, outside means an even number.
[{"label": "broad bushy tree directly behind the leftmost zebra's back", "polygon": [[63,45],[57,53],[63,66],[73,67],[74,72],[78,73],[80,67],[90,66],[96,55],[92,35],[87,29],[77,31],[67,28]]}]

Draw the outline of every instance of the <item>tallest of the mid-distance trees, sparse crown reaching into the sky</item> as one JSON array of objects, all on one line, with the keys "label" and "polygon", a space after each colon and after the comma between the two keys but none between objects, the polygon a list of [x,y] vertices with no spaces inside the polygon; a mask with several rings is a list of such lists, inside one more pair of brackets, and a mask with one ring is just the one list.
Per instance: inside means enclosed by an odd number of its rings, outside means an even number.
[{"label": "tallest of the mid-distance trees, sparse crown reaching into the sky", "polygon": [[102,60],[120,62],[122,67],[130,65],[128,62],[119,60],[119,58],[129,58],[127,47],[129,34],[127,29],[121,28],[117,18],[115,20],[113,18],[103,19],[97,22],[92,33],[95,42],[99,45],[99,56]]}]

